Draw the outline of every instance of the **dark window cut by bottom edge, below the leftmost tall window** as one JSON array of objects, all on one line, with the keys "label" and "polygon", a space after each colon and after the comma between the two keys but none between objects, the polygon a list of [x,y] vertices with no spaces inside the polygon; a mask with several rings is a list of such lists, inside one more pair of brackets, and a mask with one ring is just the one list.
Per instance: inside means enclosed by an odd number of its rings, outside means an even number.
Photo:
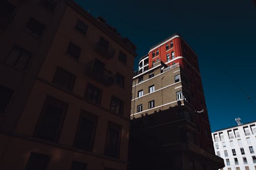
[{"label": "dark window cut by bottom edge, below the leftmost tall window", "polygon": [[26,165],[26,170],[45,170],[49,162],[49,156],[37,153],[30,153],[29,160]]}]

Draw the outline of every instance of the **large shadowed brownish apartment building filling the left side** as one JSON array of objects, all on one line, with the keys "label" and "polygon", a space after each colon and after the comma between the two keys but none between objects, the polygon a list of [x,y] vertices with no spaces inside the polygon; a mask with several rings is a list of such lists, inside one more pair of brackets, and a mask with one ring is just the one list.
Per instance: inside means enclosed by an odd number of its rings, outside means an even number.
[{"label": "large shadowed brownish apartment building filling the left side", "polygon": [[126,169],[135,45],[71,0],[0,13],[0,169]]}]

